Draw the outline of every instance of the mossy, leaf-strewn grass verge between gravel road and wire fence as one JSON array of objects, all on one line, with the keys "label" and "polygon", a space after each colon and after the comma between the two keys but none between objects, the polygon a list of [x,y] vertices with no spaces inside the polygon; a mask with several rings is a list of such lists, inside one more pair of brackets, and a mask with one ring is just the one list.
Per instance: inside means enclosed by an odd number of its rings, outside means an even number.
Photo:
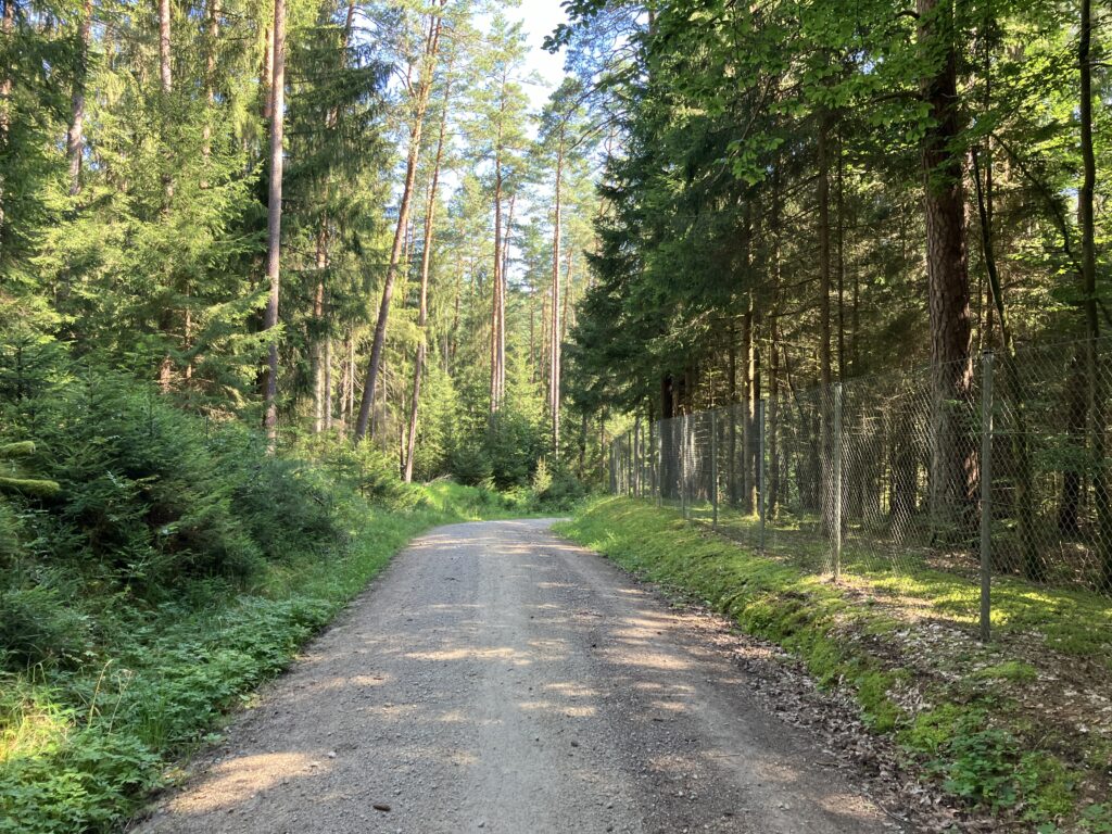
[{"label": "mossy, leaf-strewn grass verge between gravel road and wire fence", "polygon": [[835,585],[642,502],[602,499],[558,529],[780,644],[820,684],[848,687],[924,778],[1002,826],[1112,832],[1108,598],[1004,583],[1002,644],[981,646],[963,619],[974,592],[942,572],[901,579],[915,603],[901,606],[885,602],[891,574]]}]

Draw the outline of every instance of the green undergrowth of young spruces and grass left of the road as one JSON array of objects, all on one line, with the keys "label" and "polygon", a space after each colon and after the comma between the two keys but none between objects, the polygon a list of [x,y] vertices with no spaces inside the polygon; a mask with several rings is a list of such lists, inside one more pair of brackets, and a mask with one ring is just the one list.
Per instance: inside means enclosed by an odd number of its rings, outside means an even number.
[{"label": "green undergrowth of young spruces and grass left of the road", "polygon": [[2,834],[119,830],[414,535],[553,504],[336,436],[267,454],[103,373],[0,400],[0,444]]}]

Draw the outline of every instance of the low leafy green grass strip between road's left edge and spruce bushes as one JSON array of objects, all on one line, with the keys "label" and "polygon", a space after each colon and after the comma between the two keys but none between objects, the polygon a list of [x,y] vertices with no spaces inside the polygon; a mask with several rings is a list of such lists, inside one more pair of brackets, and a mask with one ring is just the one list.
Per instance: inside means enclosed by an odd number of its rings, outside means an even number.
[{"label": "low leafy green grass strip between road's left edge and spruce bushes", "polygon": [[86,662],[0,673],[0,832],[118,830],[413,536],[514,512],[447,481],[408,509],[351,502],[347,536],[287,554],[247,588],[209,578],[155,605],[106,596],[80,614],[97,636]]}]

